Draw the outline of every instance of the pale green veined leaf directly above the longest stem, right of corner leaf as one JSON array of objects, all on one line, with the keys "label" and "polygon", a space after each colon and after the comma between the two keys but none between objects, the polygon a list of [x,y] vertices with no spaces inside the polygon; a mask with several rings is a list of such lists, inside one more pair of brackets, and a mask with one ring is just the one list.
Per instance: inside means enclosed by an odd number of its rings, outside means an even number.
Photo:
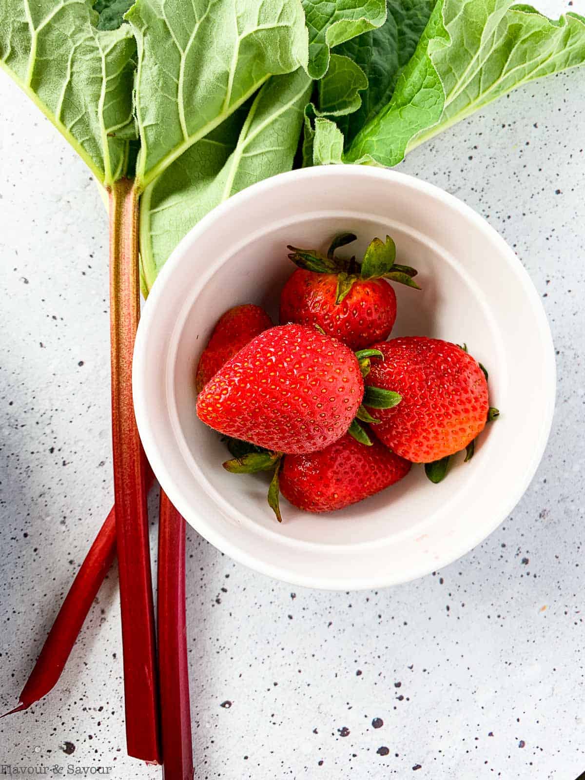
[{"label": "pale green veined leaf directly above the longest stem, right of corner leaf", "polygon": [[271,75],[307,65],[300,0],[137,0],[142,189]]}]

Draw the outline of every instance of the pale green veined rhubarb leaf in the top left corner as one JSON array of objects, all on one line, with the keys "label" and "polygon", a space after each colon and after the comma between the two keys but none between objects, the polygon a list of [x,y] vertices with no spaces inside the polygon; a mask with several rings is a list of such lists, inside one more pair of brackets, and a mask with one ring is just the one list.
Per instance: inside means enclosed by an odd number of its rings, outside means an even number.
[{"label": "pale green veined rhubarb leaf in the top left corner", "polygon": [[133,135],[136,44],[127,25],[97,20],[83,0],[0,0],[0,66],[110,186]]}]

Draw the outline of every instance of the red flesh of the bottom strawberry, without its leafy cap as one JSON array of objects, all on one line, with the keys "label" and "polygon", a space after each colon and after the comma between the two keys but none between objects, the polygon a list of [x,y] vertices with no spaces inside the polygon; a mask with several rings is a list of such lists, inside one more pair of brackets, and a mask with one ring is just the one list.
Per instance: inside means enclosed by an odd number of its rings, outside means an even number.
[{"label": "red flesh of the bottom strawberry, without its leafy cap", "polygon": [[320,452],[285,456],[280,491],[305,512],[333,512],[385,490],[409,471],[409,461],[379,441],[364,447],[346,434]]}]

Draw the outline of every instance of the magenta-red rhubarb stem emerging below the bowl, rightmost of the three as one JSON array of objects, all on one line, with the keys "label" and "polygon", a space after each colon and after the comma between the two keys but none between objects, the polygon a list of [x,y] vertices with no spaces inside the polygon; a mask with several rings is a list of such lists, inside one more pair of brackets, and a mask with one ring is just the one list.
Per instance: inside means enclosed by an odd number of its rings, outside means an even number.
[{"label": "magenta-red rhubarb stem emerging below the bowl, rightmost of the three", "polygon": [[158,516],[158,665],[165,780],[192,780],[185,609],[185,520],[161,491]]}]

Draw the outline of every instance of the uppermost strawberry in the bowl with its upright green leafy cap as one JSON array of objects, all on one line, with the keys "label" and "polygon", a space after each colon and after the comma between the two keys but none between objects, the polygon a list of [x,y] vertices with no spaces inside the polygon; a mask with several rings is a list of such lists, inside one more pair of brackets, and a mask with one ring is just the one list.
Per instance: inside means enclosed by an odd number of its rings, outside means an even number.
[{"label": "uppermost strawberry in the bowl with its upright green leafy cap", "polygon": [[351,349],[388,339],[396,319],[396,295],[386,281],[419,289],[414,268],[395,264],[396,247],[374,239],[361,264],[344,261],[335,250],[356,240],[353,233],[334,239],[328,254],[289,246],[289,258],[300,268],[286,282],[280,298],[280,321],[314,324]]}]

